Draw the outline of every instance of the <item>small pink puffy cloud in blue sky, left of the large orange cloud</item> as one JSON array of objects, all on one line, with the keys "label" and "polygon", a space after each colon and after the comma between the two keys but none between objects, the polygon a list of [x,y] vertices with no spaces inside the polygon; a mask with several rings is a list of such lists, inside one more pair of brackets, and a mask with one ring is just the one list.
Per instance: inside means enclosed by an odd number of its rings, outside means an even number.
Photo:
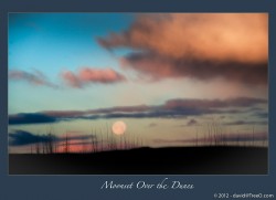
[{"label": "small pink puffy cloud in blue sky, left of the large orange cloud", "polygon": [[77,73],[64,71],[61,74],[62,78],[71,87],[81,88],[87,84],[100,83],[112,84],[126,81],[126,77],[112,69],[79,69]]}]

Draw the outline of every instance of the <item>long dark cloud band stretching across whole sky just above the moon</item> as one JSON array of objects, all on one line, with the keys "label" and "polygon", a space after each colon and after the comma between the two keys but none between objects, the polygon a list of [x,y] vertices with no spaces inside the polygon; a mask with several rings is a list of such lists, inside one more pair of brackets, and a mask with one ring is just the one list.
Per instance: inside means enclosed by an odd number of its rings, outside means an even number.
[{"label": "long dark cloud band stretching across whole sky just above the moon", "polygon": [[9,116],[10,125],[57,123],[73,119],[99,118],[182,118],[206,114],[238,114],[241,108],[266,105],[263,98],[237,97],[227,99],[169,99],[162,105],[120,106],[89,110],[44,110]]}]

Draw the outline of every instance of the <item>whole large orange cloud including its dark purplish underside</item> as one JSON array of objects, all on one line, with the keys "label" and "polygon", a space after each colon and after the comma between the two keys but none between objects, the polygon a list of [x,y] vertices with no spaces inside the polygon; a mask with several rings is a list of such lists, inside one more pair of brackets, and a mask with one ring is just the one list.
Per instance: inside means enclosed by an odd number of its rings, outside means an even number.
[{"label": "whole large orange cloud including its dark purplish underside", "polygon": [[121,63],[153,80],[222,77],[266,85],[267,19],[265,13],[140,14],[125,32],[97,41],[108,50],[139,50]]}]

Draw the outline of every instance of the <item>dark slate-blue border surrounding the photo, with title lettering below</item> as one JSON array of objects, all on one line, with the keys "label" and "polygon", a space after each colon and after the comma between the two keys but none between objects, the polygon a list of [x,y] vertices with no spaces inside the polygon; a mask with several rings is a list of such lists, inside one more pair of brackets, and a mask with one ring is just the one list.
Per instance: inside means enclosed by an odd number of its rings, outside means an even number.
[{"label": "dark slate-blue border surrounding the photo, with title lettering below", "polygon": [[[10,12],[266,12],[269,19],[269,166],[264,176],[9,176],[8,14]],[[252,33],[254,34],[254,33]],[[276,198],[276,3],[274,0],[1,0],[0,2],[0,199],[2,200],[198,200],[214,193],[273,193]],[[162,179],[194,185],[193,190],[100,189]],[[231,198],[230,198],[231,199]]]}]

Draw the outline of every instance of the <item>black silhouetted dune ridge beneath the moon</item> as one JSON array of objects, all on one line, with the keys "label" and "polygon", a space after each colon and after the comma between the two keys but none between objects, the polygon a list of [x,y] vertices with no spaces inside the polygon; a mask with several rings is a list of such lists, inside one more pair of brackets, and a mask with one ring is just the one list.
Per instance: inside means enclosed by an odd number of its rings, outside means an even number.
[{"label": "black silhouetted dune ridge beneath the moon", "polygon": [[266,175],[265,147],[167,147],[9,155],[10,175]]}]

